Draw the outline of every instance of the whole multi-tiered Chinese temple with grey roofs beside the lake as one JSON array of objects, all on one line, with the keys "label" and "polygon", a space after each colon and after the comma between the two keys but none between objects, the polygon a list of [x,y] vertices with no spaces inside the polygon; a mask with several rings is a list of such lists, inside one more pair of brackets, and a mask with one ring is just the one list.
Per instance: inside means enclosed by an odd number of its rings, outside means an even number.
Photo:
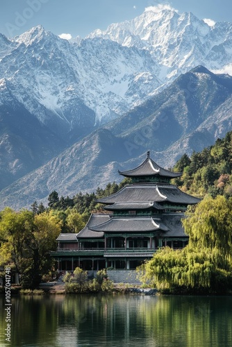
[{"label": "whole multi-tiered Chinese temple with grey roofs beside the lake", "polygon": [[181,219],[198,198],[181,192],[170,180],[180,173],[159,167],[147,158],[135,169],[119,172],[131,185],[100,198],[108,214],[92,214],[78,234],[60,234],[53,257],[59,270],[135,269],[158,247],[183,248],[188,237]]}]

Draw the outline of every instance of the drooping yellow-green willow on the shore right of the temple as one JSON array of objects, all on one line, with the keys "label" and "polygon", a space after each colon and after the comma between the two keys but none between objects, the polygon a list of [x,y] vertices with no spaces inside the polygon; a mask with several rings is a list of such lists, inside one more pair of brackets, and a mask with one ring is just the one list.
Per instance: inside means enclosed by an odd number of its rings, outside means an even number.
[{"label": "drooping yellow-green willow on the shore right of the temple", "polygon": [[158,289],[219,293],[232,289],[232,201],[206,198],[183,220],[189,244],[161,248],[139,269]]}]

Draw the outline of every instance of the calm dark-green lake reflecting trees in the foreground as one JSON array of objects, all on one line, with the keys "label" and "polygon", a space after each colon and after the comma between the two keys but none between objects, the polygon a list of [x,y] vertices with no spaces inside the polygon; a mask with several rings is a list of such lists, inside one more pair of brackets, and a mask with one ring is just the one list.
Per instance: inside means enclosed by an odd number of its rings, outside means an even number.
[{"label": "calm dark-green lake reflecting trees in the foreground", "polygon": [[11,343],[0,346],[231,347],[231,296],[13,296]]}]

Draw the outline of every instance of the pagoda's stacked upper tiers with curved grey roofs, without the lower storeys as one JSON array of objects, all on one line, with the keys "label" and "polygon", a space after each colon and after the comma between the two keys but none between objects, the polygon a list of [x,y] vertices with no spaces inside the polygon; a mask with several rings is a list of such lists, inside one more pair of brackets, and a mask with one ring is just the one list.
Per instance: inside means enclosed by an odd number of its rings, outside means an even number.
[{"label": "pagoda's stacked upper tiers with curved grey roofs, without the lower storeys", "polygon": [[[181,173],[163,169],[151,160],[149,152],[146,160],[138,167],[129,171],[119,171],[119,174],[132,178],[133,183],[124,186],[115,194],[97,200],[105,205],[105,210],[113,214],[108,215],[108,219],[103,223],[96,225],[90,218],[85,229],[76,235],[77,238],[90,235],[90,230],[93,237],[100,236],[99,232],[103,236],[102,233],[105,232],[116,234],[157,230],[162,233],[169,231],[169,234],[171,232],[175,236],[176,221],[183,218],[183,212],[188,205],[199,202],[199,198],[185,194],[176,185],[171,185],[169,180],[181,176]],[[92,218],[96,217],[93,215]],[[179,227],[176,228],[176,232],[180,235]],[[184,232],[181,234],[185,235]]]}]

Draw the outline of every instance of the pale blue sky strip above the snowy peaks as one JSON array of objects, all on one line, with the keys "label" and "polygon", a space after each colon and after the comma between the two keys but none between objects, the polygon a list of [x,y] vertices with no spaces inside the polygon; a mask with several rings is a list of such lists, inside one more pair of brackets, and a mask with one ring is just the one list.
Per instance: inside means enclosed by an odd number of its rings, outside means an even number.
[{"label": "pale blue sky strip above the snowy peaks", "polygon": [[231,0],[0,0],[0,33],[12,37],[42,24],[56,35],[85,37],[96,28],[132,19],[144,8],[167,3],[199,19],[232,22]]}]

